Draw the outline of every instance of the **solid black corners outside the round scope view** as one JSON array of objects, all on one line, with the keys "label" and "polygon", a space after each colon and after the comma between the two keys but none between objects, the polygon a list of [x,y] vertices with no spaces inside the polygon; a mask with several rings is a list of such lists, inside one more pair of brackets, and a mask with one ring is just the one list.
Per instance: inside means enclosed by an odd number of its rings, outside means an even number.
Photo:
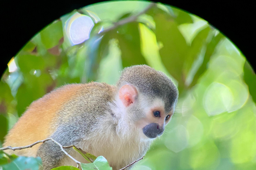
[{"label": "solid black corners outside the round scope view", "polygon": [[[1,2],[0,75],[9,60],[37,32],[62,15],[102,1],[5,1]],[[248,1],[158,1],[186,10],[208,21],[228,37],[255,70],[255,9]]]}]

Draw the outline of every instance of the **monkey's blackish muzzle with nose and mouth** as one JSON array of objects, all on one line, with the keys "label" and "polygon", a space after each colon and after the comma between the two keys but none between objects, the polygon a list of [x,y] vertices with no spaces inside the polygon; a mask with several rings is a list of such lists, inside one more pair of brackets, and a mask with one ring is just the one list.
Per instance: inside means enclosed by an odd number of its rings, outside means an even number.
[{"label": "monkey's blackish muzzle with nose and mouth", "polygon": [[164,127],[160,128],[160,126],[156,123],[151,123],[145,126],[143,129],[143,133],[149,138],[155,138],[161,135],[164,132]]}]

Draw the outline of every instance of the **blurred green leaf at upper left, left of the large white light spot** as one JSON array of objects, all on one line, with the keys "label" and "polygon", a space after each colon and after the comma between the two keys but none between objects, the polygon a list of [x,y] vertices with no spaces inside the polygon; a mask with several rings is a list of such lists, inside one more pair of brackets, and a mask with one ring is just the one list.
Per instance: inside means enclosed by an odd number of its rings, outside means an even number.
[{"label": "blurred green leaf at upper left, left of the large white light spot", "polygon": [[44,46],[49,49],[59,44],[59,40],[63,37],[61,21],[54,21],[40,32],[41,41]]}]

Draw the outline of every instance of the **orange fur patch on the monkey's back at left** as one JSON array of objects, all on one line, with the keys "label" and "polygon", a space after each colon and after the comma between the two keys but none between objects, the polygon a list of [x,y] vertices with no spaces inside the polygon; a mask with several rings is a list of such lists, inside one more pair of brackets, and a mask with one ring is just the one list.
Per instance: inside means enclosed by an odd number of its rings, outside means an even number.
[{"label": "orange fur patch on the monkey's back at left", "polygon": [[[76,92],[82,87],[82,84],[66,85],[34,101],[9,131],[3,146],[25,146],[50,137],[57,128],[52,127],[54,124],[52,122],[56,119],[56,112],[72,97],[75,97]],[[22,150],[6,150],[6,152],[23,156],[36,156],[41,144]]]}]

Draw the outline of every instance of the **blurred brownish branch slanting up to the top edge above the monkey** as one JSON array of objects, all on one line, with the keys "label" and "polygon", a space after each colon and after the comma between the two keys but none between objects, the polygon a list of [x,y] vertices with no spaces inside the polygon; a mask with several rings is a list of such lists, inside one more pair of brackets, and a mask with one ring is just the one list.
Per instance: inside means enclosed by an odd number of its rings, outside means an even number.
[{"label": "blurred brownish branch slanting up to the top edge above the monkey", "polygon": [[99,35],[102,36],[102,35],[105,34],[106,32],[109,32],[109,31],[111,31],[111,30],[114,30],[114,29],[116,29],[117,27],[119,27],[119,26],[121,26],[121,25],[125,25],[125,24],[127,24],[127,23],[136,21],[137,18],[138,18],[140,15],[145,14],[150,8],[152,8],[152,7],[154,7],[154,6],[156,6],[156,3],[152,2],[152,3],[151,3],[147,8],[145,8],[143,11],[139,12],[139,13],[136,14],[136,15],[132,15],[132,16],[130,16],[130,17],[124,18],[124,19],[122,19],[122,20],[116,22],[113,27],[110,27],[110,28],[108,28],[108,29],[106,29],[106,30],[103,30],[102,32],[99,33]]}]

